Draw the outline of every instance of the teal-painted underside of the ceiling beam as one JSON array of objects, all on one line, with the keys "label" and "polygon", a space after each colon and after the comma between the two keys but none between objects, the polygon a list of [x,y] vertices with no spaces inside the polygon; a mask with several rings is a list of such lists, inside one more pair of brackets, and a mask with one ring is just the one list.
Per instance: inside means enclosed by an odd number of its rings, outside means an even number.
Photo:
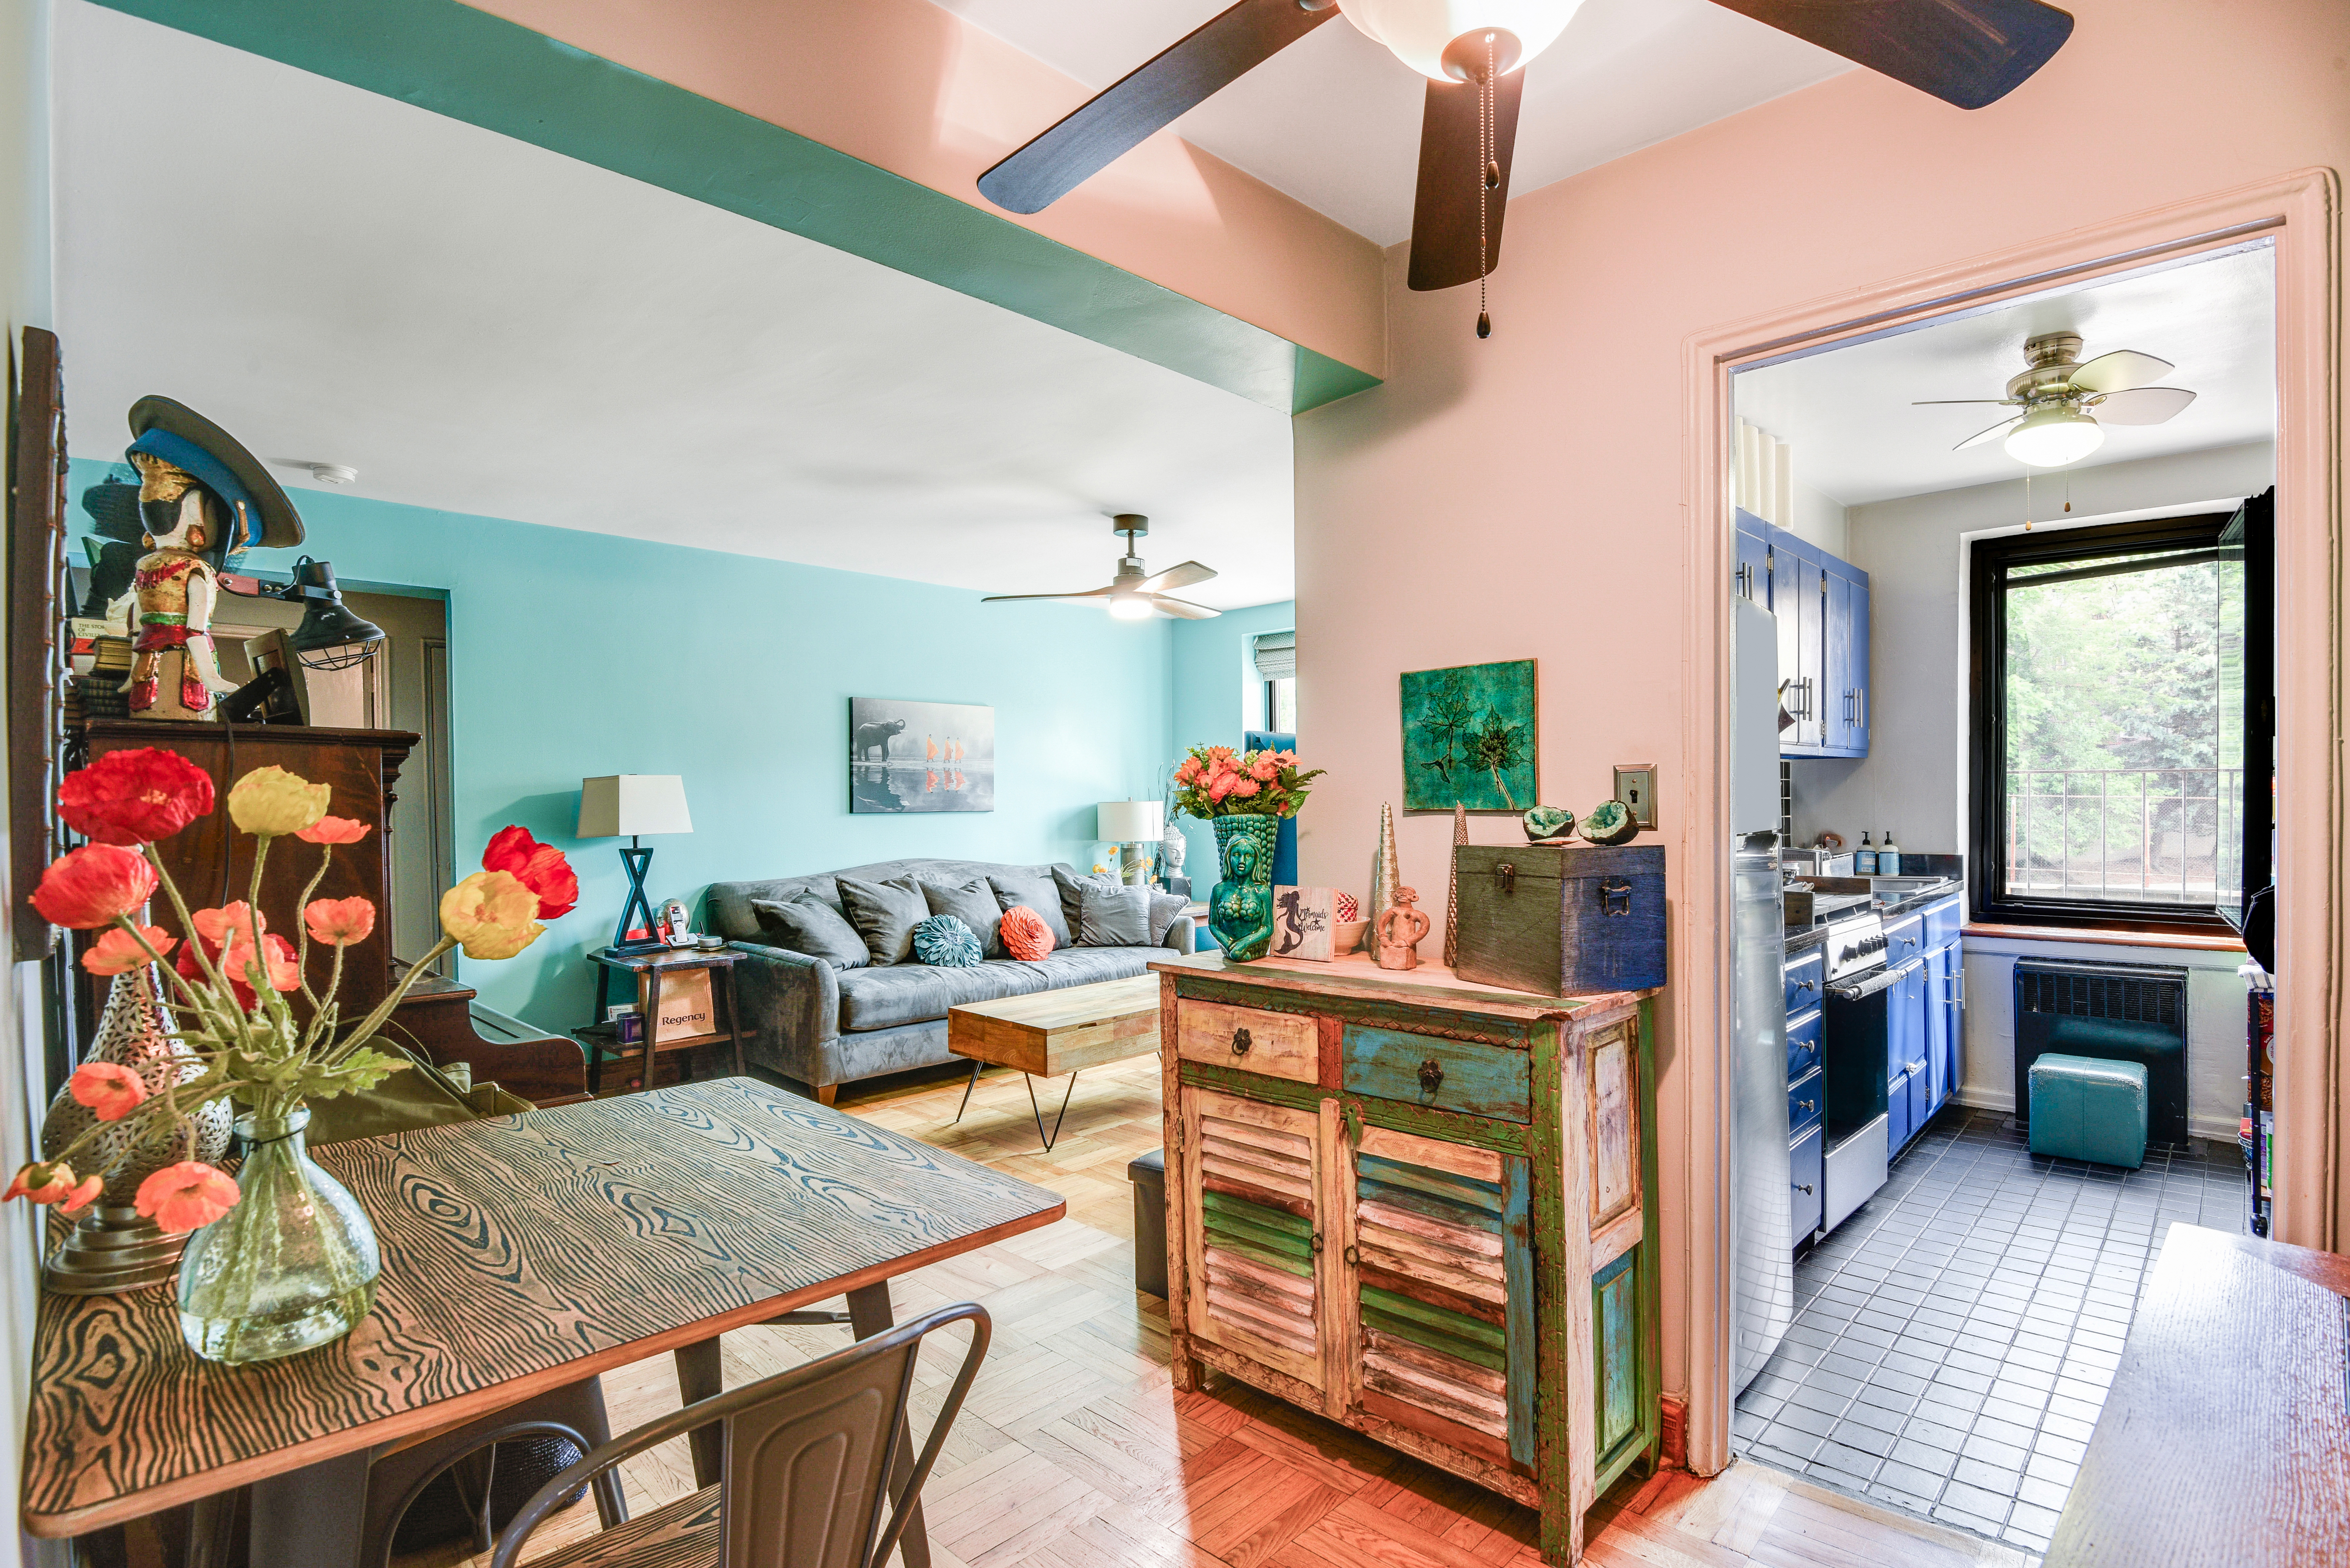
[{"label": "teal-painted underside of the ceiling beam", "polygon": [[1379,386],[1262,327],[458,0],[99,0],[879,261],[1283,414]]}]

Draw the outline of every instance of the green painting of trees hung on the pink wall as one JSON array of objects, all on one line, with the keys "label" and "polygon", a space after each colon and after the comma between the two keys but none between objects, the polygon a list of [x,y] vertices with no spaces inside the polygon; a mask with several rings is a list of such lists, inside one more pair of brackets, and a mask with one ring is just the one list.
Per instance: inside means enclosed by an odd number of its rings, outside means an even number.
[{"label": "green painting of trees hung on the pink wall", "polygon": [[1535,804],[1535,661],[1403,675],[1403,809]]}]

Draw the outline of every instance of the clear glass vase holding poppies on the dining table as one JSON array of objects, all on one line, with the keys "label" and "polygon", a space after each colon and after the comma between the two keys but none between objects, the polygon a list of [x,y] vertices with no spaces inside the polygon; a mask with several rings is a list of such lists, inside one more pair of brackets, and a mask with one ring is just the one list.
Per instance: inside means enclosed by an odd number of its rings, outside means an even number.
[{"label": "clear glass vase holding poppies on the dining table", "polygon": [[303,1147],[310,1110],[237,1117],[242,1197],[179,1260],[179,1333],[207,1361],[331,1345],[376,1305],[383,1255],[360,1201]]}]

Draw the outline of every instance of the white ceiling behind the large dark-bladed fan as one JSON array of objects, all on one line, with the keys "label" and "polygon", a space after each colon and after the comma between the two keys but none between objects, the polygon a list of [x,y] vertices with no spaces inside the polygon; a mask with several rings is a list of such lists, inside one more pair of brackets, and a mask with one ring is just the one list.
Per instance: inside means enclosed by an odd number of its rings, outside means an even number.
[{"label": "white ceiling behind the large dark-bladed fan", "polygon": [[[1231,0],[938,5],[1102,89]],[[1509,193],[1539,190],[1852,68],[1713,0],[1584,0],[1558,42],[1525,68]],[[1412,233],[1424,87],[1426,78],[1337,16],[1194,108],[1175,132],[1358,235],[1396,244]]]}]

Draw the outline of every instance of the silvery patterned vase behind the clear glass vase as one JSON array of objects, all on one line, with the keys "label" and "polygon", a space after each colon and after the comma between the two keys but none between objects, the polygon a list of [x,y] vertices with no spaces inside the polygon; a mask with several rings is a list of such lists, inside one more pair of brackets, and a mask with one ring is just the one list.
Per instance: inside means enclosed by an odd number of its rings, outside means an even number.
[{"label": "silvery patterned vase behind the clear glass vase", "polygon": [[[176,1046],[172,1016],[162,1006],[162,976],[155,964],[115,976],[106,992],[106,1011],[99,1013],[96,1039],[89,1041],[85,1063],[118,1063],[139,1074],[150,1095],[162,1093],[164,1077],[176,1072],[179,1081],[202,1077],[195,1060],[174,1065]],[[40,1124],[40,1152],[56,1159],[56,1152],[96,1124],[96,1114],[73,1098],[70,1088],[56,1091],[49,1114]],[[186,1128],[157,1133],[146,1143],[134,1143],[127,1128],[99,1133],[85,1154],[75,1154],[82,1171],[103,1171],[106,1187],[99,1201],[66,1232],[66,1239],[49,1251],[40,1276],[52,1291],[66,1295],[113,1295],[118,1291],[141,1291],[169,1284],[179,1276],[179,1255],[188,1237],[155,1227],[132,1206],[139,1182],[164,1166],[183,1159],[219,1164],[228,1152],[228,1100],[214,1100],[188,1117]]]}]

